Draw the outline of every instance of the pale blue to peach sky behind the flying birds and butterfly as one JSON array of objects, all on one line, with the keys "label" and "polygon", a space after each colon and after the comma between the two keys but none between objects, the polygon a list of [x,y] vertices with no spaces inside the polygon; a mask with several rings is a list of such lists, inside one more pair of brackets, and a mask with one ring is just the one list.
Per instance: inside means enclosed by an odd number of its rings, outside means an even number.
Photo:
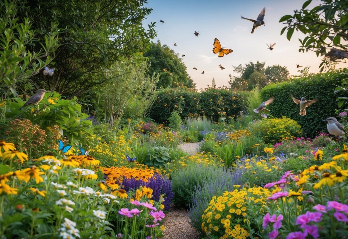
[{"label": "pale blue to peach sky behind the flying birds and butterfly", "polygon": [[[196,88],[205,88],[215,79],[217,87],[228,86],[229,75],[240,76],[234,72],[234,66],[243,66],[250,61],[266,62],[269,65],[287,67],[290,75],[300,75],[299,69],[309,67],[309,72],[318,73],[321,57],[315,52],[299,53],[300,42],[305,35],[295,31],[291,40],[286,38],[286,32],[280,31],[286,26],[279,23],[284,15],[293,15],[294,9],[301,9],[306,0],[222,0],[222,1],[193,1],[193,0],[148,0],[146,7],[152,12],[144,20],[143,26],[156,22],[157,37],[161,45],[167,45],[179,54],[187,67],[187,72],[196,83]],[[307,9],[319,5],[314,0]],[[262,8],[266,7],[265,25],[255,29],[251,34],[253,23],[240,18],[256,20]],[[163,20],[165,23],[161,23]],[[199,32],[196,37],[194,32]],[[233,52],[223,57],[213,53],[214,39],[219,39],[223,48]],[[176,43],[176,46],[174,46]],[[276,43],[273,51],[267,45]],[[185,56],[182,57],[182,54]],[[219,68],[221,64],[225,69]],[[302,68],[296,68],[300,64]],[[340,63],[340,67],[347,64]],[[193,69],[197,68],[197,71]],[[201,74],[204,71],[204,74]]]}]

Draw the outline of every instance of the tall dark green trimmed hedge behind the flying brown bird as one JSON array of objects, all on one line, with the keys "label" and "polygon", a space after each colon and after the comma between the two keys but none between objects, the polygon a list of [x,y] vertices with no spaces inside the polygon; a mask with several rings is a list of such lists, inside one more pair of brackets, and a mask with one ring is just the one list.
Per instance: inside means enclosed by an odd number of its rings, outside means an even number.
[{"label": "tall dark green trimmed hedge behind the flying brown bird", "polygon": [[[341,80],[346,75],[341,72],[348,72],[347,69],[340,72],[326,72],[323,74],[301,77],[279,84],[271,84],[261,90],[261,98],[267,100],[274,96],[274,101],[267,106],[269,114],[276,118],[286,116],[298,122],[302,126],[303,136],[314,138],[318,132],[327,132],[326,122],[328,117],[337,117],[335,110],[339,109],[336,98],[343,96],[343,93],[334,94],[334,84],[341,85]],[[300,106],[292,100],[290,93],[301,100],[319,98],[319,100],[306,108],[307,115],[301,116]],[[339,118],[337,118],[339,121]]]}]

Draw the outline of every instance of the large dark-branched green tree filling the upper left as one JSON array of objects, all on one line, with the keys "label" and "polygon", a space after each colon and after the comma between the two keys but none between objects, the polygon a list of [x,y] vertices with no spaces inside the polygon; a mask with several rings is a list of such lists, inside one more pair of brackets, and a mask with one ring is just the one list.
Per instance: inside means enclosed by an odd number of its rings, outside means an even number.
[{"label": "large dark-branched green tree filling the upper left", "polygon": [[143,19],[152,10],[144,6],[145,0],[15,3],[20,20],[24,22],[24,16],[28,17],[35,29],[35,44],[27,46],[30,52],[41,51],[46,36],[52,34],[52,26],[57,26],[58,46],[49,64],[56,68],[54,75],[38,74],[30,81],[38,88],[55,90],[68,98],[117,78],[117,72],[108,77],[105,73],[116,61],[141,64],[133,60],[133,54],[145,51],[149,39],[156,36],[155,23],[147,31],[142,27]]}]

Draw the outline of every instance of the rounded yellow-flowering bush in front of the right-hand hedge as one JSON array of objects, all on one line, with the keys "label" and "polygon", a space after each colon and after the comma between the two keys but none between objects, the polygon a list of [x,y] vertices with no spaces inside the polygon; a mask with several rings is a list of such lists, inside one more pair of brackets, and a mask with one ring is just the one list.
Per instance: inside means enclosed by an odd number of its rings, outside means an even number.
[{"label": "rounded yellow-flowering bush in front of the right-hand hedge", "polygon": [[266,144],[275,144],[302,134],[301,125],[289,118],[262,119],[251,125],[251,131]]}]

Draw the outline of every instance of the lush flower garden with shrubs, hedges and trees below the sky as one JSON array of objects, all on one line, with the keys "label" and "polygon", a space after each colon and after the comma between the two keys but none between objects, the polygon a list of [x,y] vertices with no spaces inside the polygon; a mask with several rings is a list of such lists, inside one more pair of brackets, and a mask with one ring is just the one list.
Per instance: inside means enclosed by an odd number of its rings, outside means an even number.
[{"label": "lush flower garden with shrubs, hedges and trees below the sky", "polygon": [[[347,135],[326,122],[348,125],[346,68],[198,91],[149,70],[150,46],[177,55],[139,26],[146,1],[98,2],[1,3],[0,238],[166,238],[176,209],[199,238],[348,238]],[[303,116],[292,95],[319,100]]]}]

